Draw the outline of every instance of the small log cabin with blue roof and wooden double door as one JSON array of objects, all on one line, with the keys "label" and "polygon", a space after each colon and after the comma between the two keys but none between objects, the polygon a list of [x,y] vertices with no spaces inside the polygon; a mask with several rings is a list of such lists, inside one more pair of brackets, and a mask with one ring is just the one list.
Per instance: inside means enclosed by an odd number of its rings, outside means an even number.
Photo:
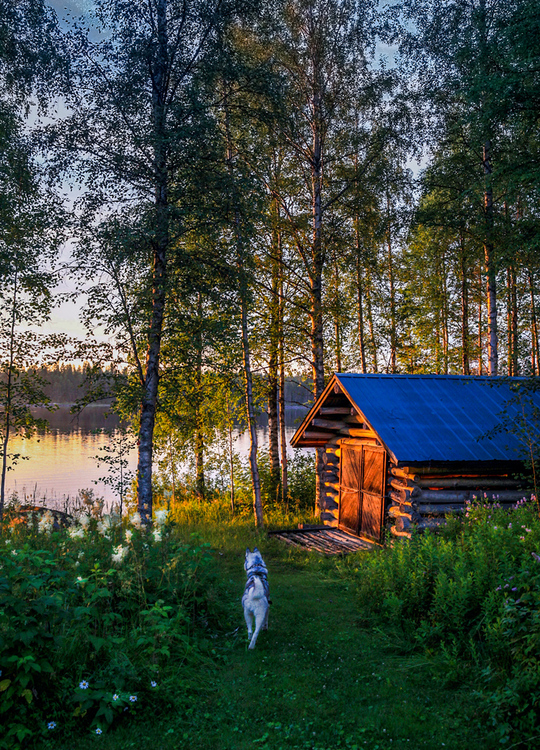
[{"label": "small log cabin with blue roof and wooden double door", "polygon": [[294,434],[320,448],[321,520],[380,542],[531,491],[540,391],[526,378],[335,374]]}]

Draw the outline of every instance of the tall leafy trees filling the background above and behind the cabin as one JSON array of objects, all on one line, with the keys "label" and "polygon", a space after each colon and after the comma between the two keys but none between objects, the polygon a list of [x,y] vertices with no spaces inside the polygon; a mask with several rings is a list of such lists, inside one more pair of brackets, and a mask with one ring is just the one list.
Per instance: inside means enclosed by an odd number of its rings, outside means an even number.
[{"label": "tall leafy trees filling the background above and behind the cabin", "polygon": [[243,419],[262,524],[255,419],[286,499],[290,378],[304,402],[335,371],[540,375],[538,0],[382,5],[96,0],[72,27],[2,6],[5,371],[69,236],[145,522],[153,459],[187,441],[204,497]]}]

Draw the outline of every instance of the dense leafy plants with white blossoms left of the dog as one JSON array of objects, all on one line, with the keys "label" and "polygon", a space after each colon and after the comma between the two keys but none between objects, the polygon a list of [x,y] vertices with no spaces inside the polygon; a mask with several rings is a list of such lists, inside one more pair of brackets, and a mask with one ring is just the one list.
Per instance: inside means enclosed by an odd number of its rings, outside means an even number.
[{"label": "dense leafy plants with white blossoms left of the dog", "polygon": [[170,527],[18,524],[0,560],[6,750],[167,710],[178,696],[169,688],[194,684],[223,620],[207,546]]}]

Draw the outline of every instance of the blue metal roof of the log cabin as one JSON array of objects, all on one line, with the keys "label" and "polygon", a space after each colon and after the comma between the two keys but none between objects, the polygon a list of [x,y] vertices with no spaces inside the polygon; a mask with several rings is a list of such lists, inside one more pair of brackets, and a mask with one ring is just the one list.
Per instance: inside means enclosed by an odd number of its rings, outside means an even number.
[{"label": "blue metal roof of the log cabin", "polygon": [[[351,402],[401,462],[519,461],[527,457],[525,432],[536,442],[540,425],[532,416],[540,409],[540,391],[515,403],[512,386],[525,378],[460,375],[357,375],[335,378]],[[502,414],[507,410],[507,415]],[[502,430],[514,421],[514,432]]]}]

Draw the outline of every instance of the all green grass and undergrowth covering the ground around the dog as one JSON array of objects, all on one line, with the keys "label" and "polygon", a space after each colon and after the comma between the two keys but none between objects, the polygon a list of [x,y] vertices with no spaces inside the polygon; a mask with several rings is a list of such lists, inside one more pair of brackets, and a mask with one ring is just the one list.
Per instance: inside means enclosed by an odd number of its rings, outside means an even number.
[{"label": "all green grass and undergrowth covering the ground around the dog", "polygon": [[[136,517],[5,533],[0,746],[536,746],[535,506],[471,507],[438,536],[332,558],[267,538],[249,510],[192,502],[150,534]],[[255,545],[273,604],[248,652]]]}]

